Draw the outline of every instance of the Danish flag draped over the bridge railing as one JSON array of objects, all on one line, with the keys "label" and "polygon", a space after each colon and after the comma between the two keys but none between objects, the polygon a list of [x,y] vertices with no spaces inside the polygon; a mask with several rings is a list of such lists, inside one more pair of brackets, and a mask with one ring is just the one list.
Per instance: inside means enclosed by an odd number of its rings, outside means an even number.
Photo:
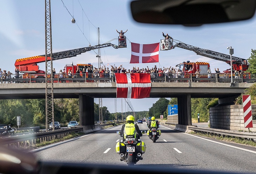
[{"label": "Danish flag draped over the bridge railing", "polygon": [[116,98],[146,98],[151,90],[150,74],[115,73]]}]

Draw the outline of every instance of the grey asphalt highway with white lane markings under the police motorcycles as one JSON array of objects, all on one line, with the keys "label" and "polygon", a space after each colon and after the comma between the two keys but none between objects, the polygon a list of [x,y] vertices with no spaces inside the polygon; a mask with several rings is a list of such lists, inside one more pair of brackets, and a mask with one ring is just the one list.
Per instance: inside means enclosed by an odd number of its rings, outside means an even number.
[{"label": "grey asphalt highway with white lane markings under the police motorcycles", "polygon": [[[147,130],[146,123],[139,124]],[[120,126],[84,135],[71,141],[37,149],[35,156],[42,161],[82,162],[93,164],[127,165],[120,161],[115,152],[116,142],[121,139],[116,131]],[[156,166],[157,168],[200,169],[225,172],[256,172],[256,148],[234,143],[224,143],[191,134],[180,133],[171,126],[159,128],[162,135],[156,143],[147,134],[142,141],[146,143],[143,160],[135,166]]]}]

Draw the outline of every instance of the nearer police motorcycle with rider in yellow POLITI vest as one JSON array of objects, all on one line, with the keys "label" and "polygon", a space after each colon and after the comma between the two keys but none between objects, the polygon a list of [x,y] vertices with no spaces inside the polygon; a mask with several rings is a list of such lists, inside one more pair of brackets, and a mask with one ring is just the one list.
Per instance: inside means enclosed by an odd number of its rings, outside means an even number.
[{"label": "nearer police motorcycle with rider in yellow POLITI vest", "polygon": [[123,139],[116,143],[116,153],[120,154],[121,161],[134,165],[143,159],[142,154],[146,151],[145,143],[140,140],[145,131],[140,131],[139,126],[134,124],[134,116],[127,116],[126,121],[121,131],[117,132]]}]

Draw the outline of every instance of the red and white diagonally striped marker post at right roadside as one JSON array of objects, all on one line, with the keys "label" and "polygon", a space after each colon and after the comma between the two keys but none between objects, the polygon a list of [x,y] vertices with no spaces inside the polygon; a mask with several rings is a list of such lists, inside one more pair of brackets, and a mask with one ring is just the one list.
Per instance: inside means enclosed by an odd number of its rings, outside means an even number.
[{"label": "red and white diagonally striped marker post at right roadside", "polygon": [[252,128],[251,96],[243,95],[244,128]]}]

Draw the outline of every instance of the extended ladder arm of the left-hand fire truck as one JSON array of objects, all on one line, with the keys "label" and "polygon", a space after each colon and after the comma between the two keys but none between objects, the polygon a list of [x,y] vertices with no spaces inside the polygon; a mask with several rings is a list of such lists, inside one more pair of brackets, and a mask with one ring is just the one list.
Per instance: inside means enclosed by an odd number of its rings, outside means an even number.
[{"label": "extended ladder arm of the left-hand fire truck", "polygon": [[[101,45],[95,45],[95,46],[89,46],[89,47],[83,47],[83,48],[77,48],[77,49],[73,49],[73,50],[52,53],[52,59],[59,60],[59,59],[71,58],[71,57],[74,57],[81,53],[85,53],[87,51],[96,50],[98,48],[104,48],[104,47],[109,47],[109,46],[112,46],[116,49],[119,48],[119,46],[117,46],[117,45],[114,45],[111,43],[106,43],[106,44],[101,44]],[[47,56],[49,57],[50,55],[47,55]],[[50,58],[49,58],[49,60],[50,60]],[[18,66],[25,66],[25,65],[33,65],[33,64],[41,63],[41,62],[45,62],[45,55],[17,59],[15,61],[14,65],[15,65],[15,67],[18,67]]]}]

